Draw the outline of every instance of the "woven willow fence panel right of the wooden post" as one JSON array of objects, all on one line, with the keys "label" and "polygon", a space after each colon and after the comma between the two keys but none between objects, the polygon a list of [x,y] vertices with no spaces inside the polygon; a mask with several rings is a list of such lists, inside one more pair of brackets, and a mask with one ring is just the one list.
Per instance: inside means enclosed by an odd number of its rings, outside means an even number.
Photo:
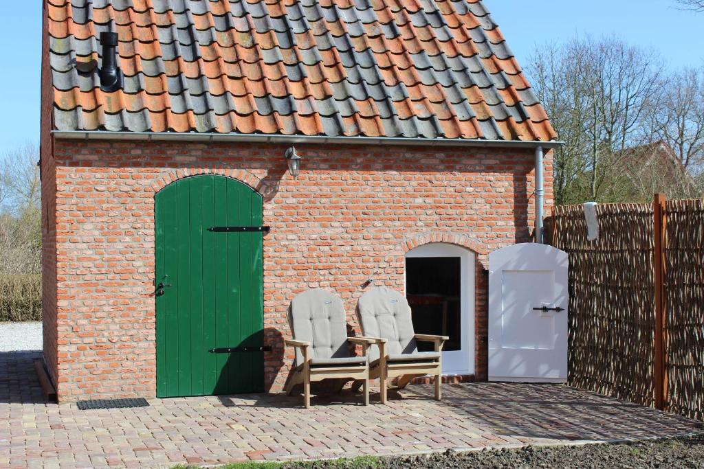
[{"label": "woven willow fence panel right of the wooden post", "polygon": [[704,200],[665,204],[666,409],[704,420]]}]

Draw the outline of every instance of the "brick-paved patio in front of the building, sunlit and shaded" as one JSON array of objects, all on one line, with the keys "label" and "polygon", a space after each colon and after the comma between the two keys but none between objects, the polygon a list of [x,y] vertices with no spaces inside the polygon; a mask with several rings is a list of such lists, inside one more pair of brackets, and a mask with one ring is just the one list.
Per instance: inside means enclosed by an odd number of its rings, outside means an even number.
[{"label": "brick-paved patio in front of the building, sunlit and shaded", "polygon": [[[555,385],[476,383],[391,394],[388,406],[358,397],[251,395],[155,399],[142,409],[80,411],[44,404],[32,359],[0,353],[0,468],[169,467],[248,459],[332,458],[448,448],[672,437],[698,424]],[[377,396],[372,395],[372,399]]]}]

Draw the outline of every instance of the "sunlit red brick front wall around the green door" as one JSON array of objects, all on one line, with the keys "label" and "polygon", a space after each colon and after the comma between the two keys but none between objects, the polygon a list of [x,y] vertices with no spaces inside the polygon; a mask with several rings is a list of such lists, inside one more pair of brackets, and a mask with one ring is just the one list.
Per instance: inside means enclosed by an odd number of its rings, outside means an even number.
[{"label": "sunlit red brick front wall around the green door", "polygon": [[303,162],[294,180],[285,148],[56,141],[61,400],[153,397],[154,194],[202,173],[227,174],[264,195],[264,223],[272,226],[264,238],[269,390],[281,389],[293,357],[282,338],[296,293],[337,291],[356,326],[363,283],[403,290],[405,252],[430,241],[477,253],[476,367],[486,377],[484,268],[492,250],[529,240],[532,151],[297,146]]}]

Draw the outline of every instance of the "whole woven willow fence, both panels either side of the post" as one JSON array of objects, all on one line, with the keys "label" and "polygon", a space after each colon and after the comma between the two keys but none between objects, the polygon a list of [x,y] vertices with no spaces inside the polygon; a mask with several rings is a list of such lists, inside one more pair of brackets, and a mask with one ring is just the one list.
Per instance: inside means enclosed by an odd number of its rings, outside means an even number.
[{"label": "whole woven willow fence, both panels either side of the post", "polygon": [[[655,404],[652,204],[555,207],[548,238],[570,255],[570,384]],[[665,203],[664,409],[704,420],[704,200]]]}]

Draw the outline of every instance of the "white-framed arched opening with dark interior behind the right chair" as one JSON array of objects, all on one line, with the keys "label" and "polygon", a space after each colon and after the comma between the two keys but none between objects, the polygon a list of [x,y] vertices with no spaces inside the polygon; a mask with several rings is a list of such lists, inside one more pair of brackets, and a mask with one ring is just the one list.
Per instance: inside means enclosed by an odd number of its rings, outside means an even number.
[{"label": "white-framed arched opening with dark interior behind the right chair", "polygon": [[[448,335],[443,373],[474,374],[474,253],[429,243],[406,254],[406,298],[416,333]],[[419,348],[424,344],[419,343]]]}]

